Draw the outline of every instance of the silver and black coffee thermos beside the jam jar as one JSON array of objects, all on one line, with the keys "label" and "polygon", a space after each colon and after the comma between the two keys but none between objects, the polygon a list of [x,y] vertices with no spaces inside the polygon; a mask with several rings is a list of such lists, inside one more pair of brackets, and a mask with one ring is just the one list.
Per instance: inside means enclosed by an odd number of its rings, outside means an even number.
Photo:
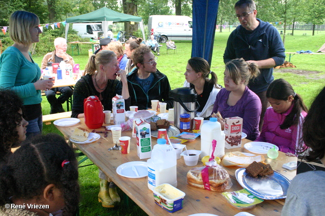
[{"label": "silver and black coffee thermos beside the jam jar", "polygon": [[194,128],[194,117],[200,108],[197,101],[197,93],[193,88],[182,87],[169,92],[169,96],[174,98],[174,125],[180,128],[180,115],[187,113],[190,116],[190,128]]}]

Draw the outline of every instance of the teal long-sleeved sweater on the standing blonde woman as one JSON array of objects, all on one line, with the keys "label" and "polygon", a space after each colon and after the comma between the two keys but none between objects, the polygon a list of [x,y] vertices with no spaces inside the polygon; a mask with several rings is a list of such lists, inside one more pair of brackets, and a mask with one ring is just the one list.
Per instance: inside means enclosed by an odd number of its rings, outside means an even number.
[{"label": "teal long-sleeved sweater on the standing blonde woman", "polygon": [[42,102],[41,90],[34,87],[40,77],[38,64],[29,62],[17,48],[8,47],[0,56],[0,87],[16,91],[24,105]]}]

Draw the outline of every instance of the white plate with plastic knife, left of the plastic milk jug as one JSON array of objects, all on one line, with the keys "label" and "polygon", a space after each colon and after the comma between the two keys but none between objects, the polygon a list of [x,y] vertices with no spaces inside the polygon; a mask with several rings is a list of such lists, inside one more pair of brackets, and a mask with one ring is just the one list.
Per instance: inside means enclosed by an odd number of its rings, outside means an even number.
[{"label": "white plate with plastic knife, left of the plastic milk jug", "polygon": [[[132,166],[136,167],[139,176],[136,175],[135,171],[132,170]],[[148,176],[148,166],[146,161],[132,161],[119,165],[116,169],[118,175],[131,178],[139,179]]]}]

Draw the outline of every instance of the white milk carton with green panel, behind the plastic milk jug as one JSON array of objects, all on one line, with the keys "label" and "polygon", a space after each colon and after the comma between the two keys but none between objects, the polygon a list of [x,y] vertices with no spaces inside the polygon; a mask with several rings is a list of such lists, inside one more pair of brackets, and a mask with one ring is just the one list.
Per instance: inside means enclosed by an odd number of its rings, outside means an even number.
[{"label": "white milk carton with green panel, behind the plastic milk jug", "polygon": [[145,122],[143,118],[136,120],[136,131],[139,158],[150,158],[152,150],[150,124]]}]

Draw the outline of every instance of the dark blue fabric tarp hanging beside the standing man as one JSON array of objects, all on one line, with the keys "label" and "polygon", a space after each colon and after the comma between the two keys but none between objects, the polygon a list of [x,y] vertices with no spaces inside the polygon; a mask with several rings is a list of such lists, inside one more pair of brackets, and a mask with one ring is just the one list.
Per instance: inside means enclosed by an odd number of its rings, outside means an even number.
[{"label": "dark blue fabric tarp hanging beside the standing man", "polygon": [[201,57],[211,65],[219,0],[193,1],[191,57]]}]

